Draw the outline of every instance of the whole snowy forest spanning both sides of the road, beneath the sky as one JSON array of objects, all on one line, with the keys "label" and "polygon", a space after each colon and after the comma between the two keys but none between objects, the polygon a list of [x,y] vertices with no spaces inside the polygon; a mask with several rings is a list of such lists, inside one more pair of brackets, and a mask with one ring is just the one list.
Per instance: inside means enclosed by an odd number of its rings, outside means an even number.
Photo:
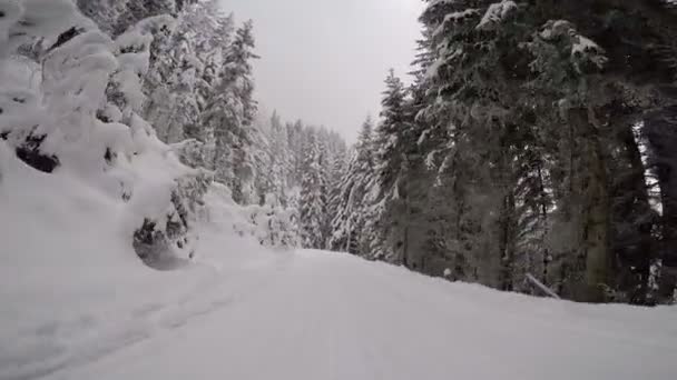
[{"label": "whole snowy forest spanning both sides of the road, beneath the sky", "polygon": [[412,83],[385,73],[353,147],[258,110],[254,22],[217,0],[0,3],[1,63],[40,82],[0,76],[17,157],[108,176],[138,204],[125,170],[150,137],[194,169],[168,174],[169,210],[135,230],[145,261],[195,253],[192,220],[217,183],[265,244],[577,301],[675,301],[671,1],[428,0]]}]

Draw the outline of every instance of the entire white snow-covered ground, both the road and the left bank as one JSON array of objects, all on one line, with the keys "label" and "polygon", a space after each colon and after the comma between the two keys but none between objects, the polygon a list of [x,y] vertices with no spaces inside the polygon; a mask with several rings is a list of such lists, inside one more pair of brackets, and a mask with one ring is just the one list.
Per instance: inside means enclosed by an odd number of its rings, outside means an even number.
[{"label": "entire white snow-covered ground, both the road and the left bank", "polygon": [[135,254],[129,204],[0,142],[0,379],[675,379],[677,308],[451,284],[269,251],[207,196],[198,257]]}]

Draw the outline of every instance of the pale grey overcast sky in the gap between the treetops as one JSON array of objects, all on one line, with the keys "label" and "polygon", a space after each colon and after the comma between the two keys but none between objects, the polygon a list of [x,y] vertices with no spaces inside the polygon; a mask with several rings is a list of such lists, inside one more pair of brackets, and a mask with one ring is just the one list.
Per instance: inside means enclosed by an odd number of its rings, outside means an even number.
[{"label": "pale grey overcast sky in the gap between the treetops", "polygon": [[353,141],[379,113],[383,80],[404,76],[420,37],[421,0],[223,0],[253,19],[256,92],[285,120],[324,124]]}]

